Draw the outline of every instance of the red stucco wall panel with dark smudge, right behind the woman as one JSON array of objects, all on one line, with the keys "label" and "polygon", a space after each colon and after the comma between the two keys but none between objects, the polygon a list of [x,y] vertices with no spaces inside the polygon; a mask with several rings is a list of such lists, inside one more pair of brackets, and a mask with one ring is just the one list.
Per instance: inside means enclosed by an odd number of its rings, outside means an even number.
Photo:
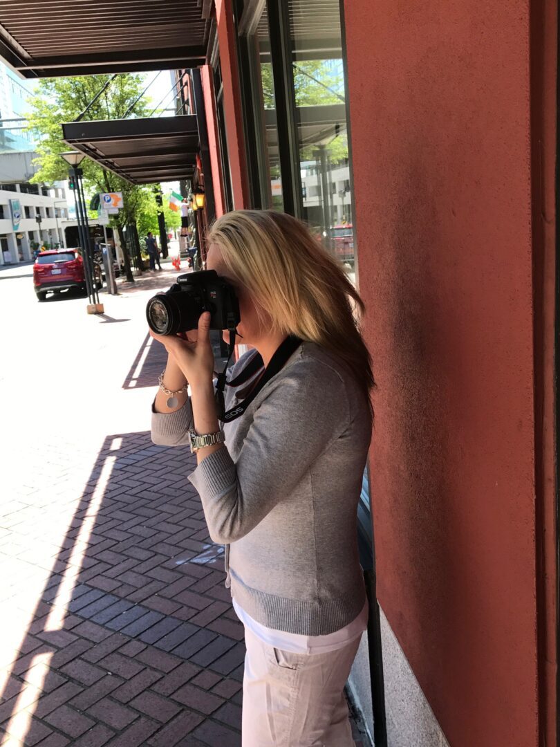
[{"label": "red stucco wall panel with dark smudge, right behind the woman", "polygon": [[529,3],[345,6],[379,601],[453,747],[532,747]]}]

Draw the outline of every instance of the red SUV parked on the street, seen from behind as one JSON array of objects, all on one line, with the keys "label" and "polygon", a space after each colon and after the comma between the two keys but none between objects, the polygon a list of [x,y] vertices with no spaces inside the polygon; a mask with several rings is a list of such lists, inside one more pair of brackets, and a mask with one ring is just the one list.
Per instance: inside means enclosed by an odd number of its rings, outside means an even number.
[{"label": "red SUV parked on the street, seen from behind", "polygon": [[[96,286],[102,288],[103,278],[99,264],[93,265]],[[74,288],[86,290],[84,262],[79,249],[50,249],[39,252],[33,265],[33,283],[35,293],[40,301],[46,299],[49,291],[60,293]]]}]

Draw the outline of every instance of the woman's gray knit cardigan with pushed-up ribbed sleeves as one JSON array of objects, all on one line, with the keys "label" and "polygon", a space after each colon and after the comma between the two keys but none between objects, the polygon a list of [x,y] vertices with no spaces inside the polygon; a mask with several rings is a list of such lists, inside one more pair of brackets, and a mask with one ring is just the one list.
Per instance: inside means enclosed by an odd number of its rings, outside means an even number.
[{"label": "woman's gray knit cardigan with pushed-up ribbed sleeves", "polygon": [[[242,356],[232,376],[253,355]],[[246,384],[226,387],[226,409],[241,389]],[[190,427],[189,402],[168,415],[152,412],[155,444],[187,444]],[[226,586],[267,627],[334,633],[365,599],[356,533],[371,438],[364,395],[342,362],[304,343],[224,431],[225,447],[189,480],[211,539],[226,545]]]}]

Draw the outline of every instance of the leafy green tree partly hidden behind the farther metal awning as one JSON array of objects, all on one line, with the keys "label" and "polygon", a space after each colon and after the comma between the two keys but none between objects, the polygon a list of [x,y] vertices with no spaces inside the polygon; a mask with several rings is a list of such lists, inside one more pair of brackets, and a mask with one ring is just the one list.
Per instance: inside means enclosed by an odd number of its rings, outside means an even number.
[{"label": "leafy green tree partly hidden behind the farther metal awning", "polygon": [[[60,153],[68,149],[62,141],[61,123],[72,122],[84,111],[96,94],[109,81],[111,75],[84,75],[80,78],[43,78],[29,99],[31,114],[28,117],[28,129],[40,135],[37,143],[39,154],[35,163],[39,170],[32,182],[52,184],[68,178],[68,170]],[[117,75],[107,90],[84,114],[86,120],[122,119],[128,108],[138,99],[145,85],[142,75],[123,73]],[[134,117],[145,117],[149,114],[149,101],[141,97],[134,105]],[[124,238],[125,226],[134,224],[144,211],[155,206],[155,197],[149,187],[132,185],[125,179],[116,176],[89,158],[81,163],[84,171],[84,191],[122,192],[124,208],[118,215],[111,216],[111,226],[119,233],[122,253],[125,258],[125,273],[129,281],[134,281],[131,273],[130,257]]]}]

